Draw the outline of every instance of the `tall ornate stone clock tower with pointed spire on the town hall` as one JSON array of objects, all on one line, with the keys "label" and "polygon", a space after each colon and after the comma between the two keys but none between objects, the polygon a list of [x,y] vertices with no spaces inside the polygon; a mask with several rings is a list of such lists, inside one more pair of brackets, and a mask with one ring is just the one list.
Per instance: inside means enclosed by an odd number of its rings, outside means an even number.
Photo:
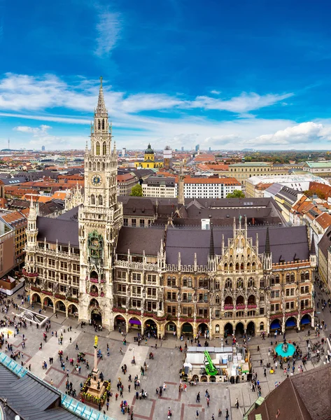
[{"label": "tall ornate stone clock tower with pointed spire on the town hall", "polygon": [[80,321],[113,329],[113,256],[122,226],[117,200],[118,158],[104,104],[102,78],[90,148],[84,158],[84,202],[79,209]]}]

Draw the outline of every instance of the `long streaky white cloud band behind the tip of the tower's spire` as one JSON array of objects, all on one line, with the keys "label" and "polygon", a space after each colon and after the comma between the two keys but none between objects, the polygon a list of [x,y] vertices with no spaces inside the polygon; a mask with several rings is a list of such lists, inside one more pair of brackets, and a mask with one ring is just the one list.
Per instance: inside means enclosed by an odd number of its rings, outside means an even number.
[{"label": "long streaky white cloud band behind the tip of the tower's spire", "polygon": [[[98,82],[88,82],[79,78],[79,83],[67,84],[57,76],[27,76],[6,73],[0,80],[0,110],[9,111],[45,111],[45,109],[65,108],[91,113],[96,104]],[[197,96],[193,100],[183,95],[170,96],[163,93],[139,93],[127,95],[115,92],[104,85],[104,96],[111,116],[127,118],[141,111],[204,109],[230,111],[245,114],[249,111],[271,106],[292,96],[286,94],[242,93],[239,97],[220,99]],[[62,117],[59,115],[59,117]]]}]

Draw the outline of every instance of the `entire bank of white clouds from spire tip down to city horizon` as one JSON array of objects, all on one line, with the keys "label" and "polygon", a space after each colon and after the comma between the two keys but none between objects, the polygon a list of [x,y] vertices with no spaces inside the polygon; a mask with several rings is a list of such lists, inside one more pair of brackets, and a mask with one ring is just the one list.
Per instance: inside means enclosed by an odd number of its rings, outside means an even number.
[{"label": "entire bank of white clouds from spire tip down to city horizon", "polygon": [[[17,136],[15,141],[21,147],[37,147],[43,141],[49,146],[83,148],[84,142],[78,144],[84,137],[80,126],[87,127],[93,118],[98,88],[99,80],[81,76],[64,80],[52,74],[6,73],[0,78],[0,118],[13,121],[13,137]],[[183,94],[129,94],[114,90],[104,81],[105,101],[119,146],[144,148],[150,141],[155,148],[165,144],[190,148],[197,143],[202,148],[309,148],[313,143],[316,147],[330,140],[330,120],[298,124],[251,115],[269,106],[283,106],[284,99],[295,97],[293,92],[242,92],[231,98],[222,97],[218,90],[211,94],[195,98]],[[209,117],[209,112],[218,111],[219,119]],[[28,124],[22,124],[24,121]],[[49,123],[55,126],[51,129]],[[68,125],[77,126],[70,130],[76,134],[66,132],[64,127]]]}]

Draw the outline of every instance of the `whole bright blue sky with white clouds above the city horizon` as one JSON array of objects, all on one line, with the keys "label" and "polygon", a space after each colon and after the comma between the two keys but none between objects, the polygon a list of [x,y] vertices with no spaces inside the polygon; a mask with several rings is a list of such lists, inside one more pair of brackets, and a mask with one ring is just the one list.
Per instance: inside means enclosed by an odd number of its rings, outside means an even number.
[{"label": "whole bright blue sky with white clouds above the city horizon", "polygon": [[0,0],[0,148],[328,149],[330,1]]}]

